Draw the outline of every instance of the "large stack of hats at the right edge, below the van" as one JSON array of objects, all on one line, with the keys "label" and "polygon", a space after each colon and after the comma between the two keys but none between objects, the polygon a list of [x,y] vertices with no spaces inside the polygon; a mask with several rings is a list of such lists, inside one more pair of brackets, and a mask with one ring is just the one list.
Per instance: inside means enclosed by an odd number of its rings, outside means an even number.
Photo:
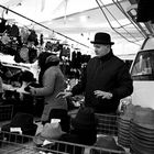
[{"label": "large stack of hats at the right edge, below the van", "polygon": [[135,154],[154,154],[154,110],[139,108],[130,129],[131,151]]}]

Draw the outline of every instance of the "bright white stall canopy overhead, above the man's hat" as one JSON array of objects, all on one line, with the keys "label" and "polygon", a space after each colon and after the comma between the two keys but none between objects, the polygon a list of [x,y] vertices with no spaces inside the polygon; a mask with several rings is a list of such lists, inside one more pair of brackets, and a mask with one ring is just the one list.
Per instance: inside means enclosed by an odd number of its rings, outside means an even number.
[{"label": "bright white stall canopy overhead, above the man's hat", "polygon": [[106,31],[118,43],[139,47],[153,29],[147,22],[135,22],[136,9],[136,0],[0,0],[1,18],[87,46],[96,32]]}]

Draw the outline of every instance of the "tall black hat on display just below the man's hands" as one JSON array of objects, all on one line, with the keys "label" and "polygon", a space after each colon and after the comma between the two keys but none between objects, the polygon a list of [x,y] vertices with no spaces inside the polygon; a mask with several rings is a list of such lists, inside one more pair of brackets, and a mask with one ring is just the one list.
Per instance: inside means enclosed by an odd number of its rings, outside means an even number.
[{"label": "tall black hat on display just below the man's hands", "polygon": [[72,125],[74,129],[79,130],[96,129],[97,119],[95,117],[94,109],[88,107],[80,108],[77,112],[77,116],[72,119]]}]

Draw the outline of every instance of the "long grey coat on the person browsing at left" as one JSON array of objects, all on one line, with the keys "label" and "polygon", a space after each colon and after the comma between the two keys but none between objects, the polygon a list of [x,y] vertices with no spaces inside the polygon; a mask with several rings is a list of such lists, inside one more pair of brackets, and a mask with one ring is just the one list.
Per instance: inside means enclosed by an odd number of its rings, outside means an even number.
[{"label": "long grey coat on the person browsing at left", "polygon": [[57,94],[66,88],[64,75],[59,66],[48,67],[42,77],[43,87],[36,88],[36,96],[44,96],[44,110],[42,121],[50,118],[52,109],[67,110],[67,101],[64,98],[56,98]]}]

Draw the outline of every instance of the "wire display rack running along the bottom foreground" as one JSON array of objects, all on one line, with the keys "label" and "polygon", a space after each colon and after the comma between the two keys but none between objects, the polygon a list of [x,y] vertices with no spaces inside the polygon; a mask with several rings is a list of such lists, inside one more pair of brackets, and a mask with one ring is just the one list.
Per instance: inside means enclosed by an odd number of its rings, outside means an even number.
[{"label": "wire display rack running along the bottom foreground", "polygon": [[125,154],[125,152],[121,151],[107,150],[75,143],[73,144],[55,140],[52,141],[52,144],[48,144],[44,147],[37,147],[33,143],[32,136],[1,132],[1,154],[85,154],[87,152],[89,154],[94,154],[92,151],[97,151],[97,154]]}]

